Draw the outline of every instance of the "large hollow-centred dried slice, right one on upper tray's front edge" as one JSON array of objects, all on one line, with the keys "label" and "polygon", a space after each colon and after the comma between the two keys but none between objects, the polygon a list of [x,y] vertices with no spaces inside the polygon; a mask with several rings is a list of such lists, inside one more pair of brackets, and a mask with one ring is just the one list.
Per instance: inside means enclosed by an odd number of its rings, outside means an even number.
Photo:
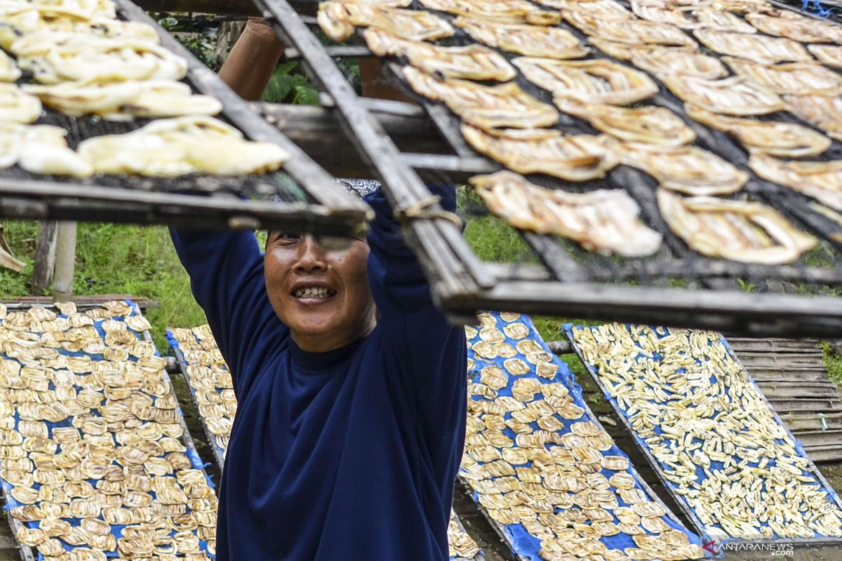
[{"label": "large hollow-centred dried slice, right one on upper tray's front edge", "polygon": [[796,261],[818,243],[765,204],[684,198],[658,189],[658,207],[669,229],[708,257],[782,265]]}]

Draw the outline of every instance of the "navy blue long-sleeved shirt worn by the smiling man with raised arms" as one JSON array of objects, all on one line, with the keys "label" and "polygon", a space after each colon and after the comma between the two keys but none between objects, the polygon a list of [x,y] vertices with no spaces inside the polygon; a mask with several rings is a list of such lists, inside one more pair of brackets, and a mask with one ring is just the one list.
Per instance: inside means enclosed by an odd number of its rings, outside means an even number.
[{"label": "navy blue long-sleeved shirt worn by the smiling man with raised arms", "polygon": [[[453,193],[443,193],[453,208]],[[464,331],[435,310],[385,198],[367,198],[374,331],[301,350],[253,234],[173,231],[234,380],[221,561],[441,561],[465,437]]]}]

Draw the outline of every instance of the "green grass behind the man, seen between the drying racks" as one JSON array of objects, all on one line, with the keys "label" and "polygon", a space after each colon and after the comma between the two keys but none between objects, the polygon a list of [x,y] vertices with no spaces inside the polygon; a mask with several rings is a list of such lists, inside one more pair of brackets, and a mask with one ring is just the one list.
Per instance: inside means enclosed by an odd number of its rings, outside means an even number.
[{"label": "green grass behind the man, seen between the drying racks", "polygon": [[[21,273],[0,268],[0,300],[29,294],[36,232],[34,222],[5,223],[4,236],[15,257],[24,261],[26,267]],[[483,260],[534,262],[521,237],[492,216],[468,220],[465,236]],[[161,352],[168,348],[167,327],[205,323],[205,315],[190,293],[189,278],[175,255],[166,228],[80,224],[77,237],[74,294],[132,294],[160,302],[160,308],[147,310],[147,317]],[[265,235],[258,234],[258,238],[262,244]],[[598,323],[544,316],[533,316],[532,320],[546,341],[563,340],[562,325],[566,321]],[[830,379],[842,384],[842,357],[834,355],[827,344],[823,344],[823,350]],[[584,367],[575,355],[565,355],[562,359],[574,373],[584,375]]]}]

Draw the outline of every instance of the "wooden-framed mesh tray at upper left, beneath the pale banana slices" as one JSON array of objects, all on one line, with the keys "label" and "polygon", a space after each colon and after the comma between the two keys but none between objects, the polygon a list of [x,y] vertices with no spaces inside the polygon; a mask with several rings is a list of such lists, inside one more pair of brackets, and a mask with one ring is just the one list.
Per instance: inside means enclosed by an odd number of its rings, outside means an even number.
[{"label": "wooden-framed mesh tray at upper left, beneath the pale banana slices", "polygon": [[[163,223],[194,228],[284,228],[325,235],[359,233],[368,210],[285,135],[250,111],[221,81],[130,0],[117,0],[121,19],[157,29],[161,45],[188,61],[186,81],[217,98],[220,118],[251,140],[272,142],[290,155],[281,172],[248,177],[191,175],[177,178],[98,175],[85,179],[36,176],[19,167],[0,171],[0,217]],[[148,119],[113,122],[68,117],[45,108],[37,124],[67,130],[68,144],[97,135],[136,130]],[[173,193],[181,191],[183,193]],[[248,200],[252,197],[254,200]],[[274,202],[276,198],[279,202]]]}]

